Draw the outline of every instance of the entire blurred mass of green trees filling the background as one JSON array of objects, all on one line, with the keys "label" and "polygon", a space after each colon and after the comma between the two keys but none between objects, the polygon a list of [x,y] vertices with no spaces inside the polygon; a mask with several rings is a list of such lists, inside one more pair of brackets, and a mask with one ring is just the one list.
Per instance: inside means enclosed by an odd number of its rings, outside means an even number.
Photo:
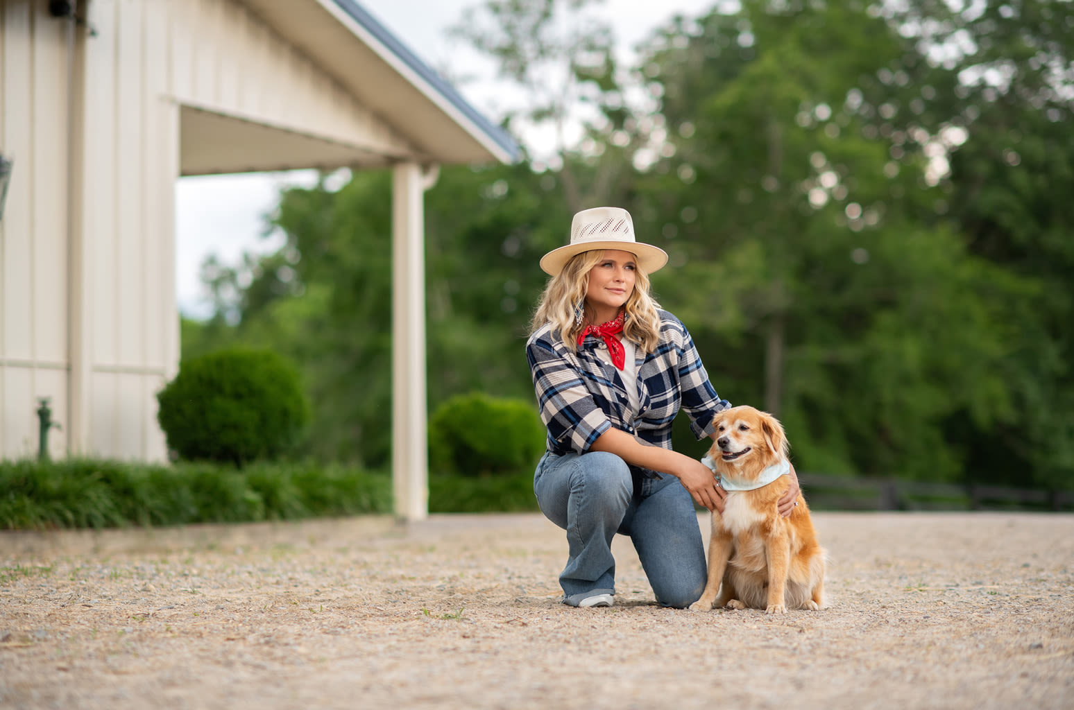
[{"label": "entire blurred mass of green trees filling the background", "polygon": [[[654,291],[716,390],[777,414],[800,472],[1074,488],[1074,3],[720,2],[636,67],[592,14],[552,30],[592,4],[489,0],[455,30],[534,98],[507,128],[560,142],[426,193],[430,410],[533,400],[537,261],[614,204],[670,253]],[[287,244],[206,262],[216,315],[183,323],[184,358],[300,364],[316,460],[390,460],[390,213],[384,172],[286,190]]]}]

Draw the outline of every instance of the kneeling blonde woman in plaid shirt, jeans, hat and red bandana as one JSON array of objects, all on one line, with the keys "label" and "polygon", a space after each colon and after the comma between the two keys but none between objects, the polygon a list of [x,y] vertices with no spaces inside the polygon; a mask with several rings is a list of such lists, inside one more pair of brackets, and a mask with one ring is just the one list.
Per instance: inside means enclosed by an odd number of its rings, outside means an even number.
[{"label": "kneeling blonde woman in plaid shirt, jeans, hat and red bandana", "polygon": [[[667,263],[637,242],[629,213],[584,209],[570,243],[540,260],[551,276],[526,342],[548,451],[534,492],[567,531],[563,603],[614,603],[615,533],[630,536],[663,606],[684,608],[705,589],[706,561],[694,503],[723,510],[726,492],[700,461],[671,450],[680,407],[695,436],[730,406],[709,383],[685,327],[661,310],[649,274]],[[780,499],[790,513],[798,480]]]}]

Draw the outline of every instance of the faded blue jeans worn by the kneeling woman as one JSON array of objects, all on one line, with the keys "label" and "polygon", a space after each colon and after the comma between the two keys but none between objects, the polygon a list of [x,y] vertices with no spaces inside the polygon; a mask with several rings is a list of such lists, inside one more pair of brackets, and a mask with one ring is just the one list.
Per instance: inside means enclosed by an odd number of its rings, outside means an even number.
[{"label": "faded blue jeans worn by the kneeling woman", "polygon": [[611,541],[627,535],[665,607],[685,608],[705,591],[706,560],[694,499],[674,476],[632,476],[614,453],[546,452],[534,474],[545,517],[567,531],[563,602],[578,606],[592,594],[614,594]]}]

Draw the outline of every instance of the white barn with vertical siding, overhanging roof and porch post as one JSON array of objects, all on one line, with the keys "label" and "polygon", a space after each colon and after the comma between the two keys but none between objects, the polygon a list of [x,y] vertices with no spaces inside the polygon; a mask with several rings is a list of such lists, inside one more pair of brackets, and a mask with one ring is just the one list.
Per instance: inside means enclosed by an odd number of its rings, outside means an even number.
[{"label": "white barn with vertical siding, overhanging roof and porch post", "polygon": [[0,458],[37,454],[40,397],[53,457],[165,458],[179,176],[390,166],[395,506],[424,517],[423,192],[518,153],[354,0],[0,0]]}]

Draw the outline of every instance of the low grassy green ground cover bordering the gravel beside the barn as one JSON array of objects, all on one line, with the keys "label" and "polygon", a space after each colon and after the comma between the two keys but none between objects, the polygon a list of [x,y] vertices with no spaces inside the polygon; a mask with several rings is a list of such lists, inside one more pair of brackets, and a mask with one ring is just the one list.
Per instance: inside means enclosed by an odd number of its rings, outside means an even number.
[{"label": "low grassy green ground cover bordering the gravel beside the barn", "polygon": [[[533,474],[436,476],[431,512],[536,511]],[[0,530],[105,528],[390,515],[386,472],[317,463],[0,461]]]}]

